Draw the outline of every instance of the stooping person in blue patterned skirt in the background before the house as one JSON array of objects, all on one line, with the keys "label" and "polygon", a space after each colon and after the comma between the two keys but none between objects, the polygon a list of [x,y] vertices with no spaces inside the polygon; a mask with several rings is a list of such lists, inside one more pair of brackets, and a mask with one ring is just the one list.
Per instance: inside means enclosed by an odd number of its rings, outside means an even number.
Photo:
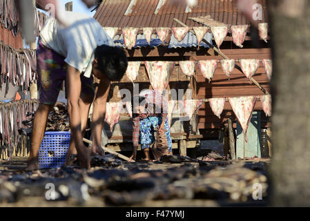
[{"label": "stooping person in blue patterned skirt in the background before the house", "polygon": [[[168,153],[172,154],[172,140],[170,128],[167,119],[167,102],[162,93],[155,90],[148,90],[148,93],[142,97],[139,96],[139,104],[135,104],[133,99],[133,154],[131,160],[135,160],[137,147],[140,142],[144,150],[145,160],[150,160],[149,149],[155,142],[155,129],[159,133],[166,133],[168,142]],[[159,109],[160,107],[160,109]]]}]

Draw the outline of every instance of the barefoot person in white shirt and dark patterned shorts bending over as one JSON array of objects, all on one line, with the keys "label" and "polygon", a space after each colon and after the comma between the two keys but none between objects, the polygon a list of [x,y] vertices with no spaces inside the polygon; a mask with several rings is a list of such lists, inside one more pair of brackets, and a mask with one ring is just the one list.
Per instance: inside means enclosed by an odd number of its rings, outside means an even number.
[{"label": "barefoot person in white shirt and dark patterned shorts bending over", "polygon": [[[68,155],[77,154],[80,166],[90,167],[91,150],[84,146],[82,132],[86,129],[92,102],[92,148],[93,152],[104,155],[101,131],[110,81],[122,79],[127,68],[126,52],[114,46],[113,40],[93,17],[77,12],[64,13],[70,26],[64,28],[50,17],[39,37],[37,73],[40,104],[32,128],[28,170],[39,166],[39,146],[48,114],[57,102],[63,81],[66,81],[71,128]],[[96,94],[93,76],[100,79]]]}]

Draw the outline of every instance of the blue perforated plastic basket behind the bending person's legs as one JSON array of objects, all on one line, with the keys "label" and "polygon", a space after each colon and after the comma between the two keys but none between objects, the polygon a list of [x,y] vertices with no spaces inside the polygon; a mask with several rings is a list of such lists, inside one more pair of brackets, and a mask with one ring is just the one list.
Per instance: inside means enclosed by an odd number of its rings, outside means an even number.
[{"label": "blue perforated plastic basket behind the bending person's legs", "polygon": [[50,131],[44,134],[39,148],[39,168],[64,166],[69,149],[70,132]]}]

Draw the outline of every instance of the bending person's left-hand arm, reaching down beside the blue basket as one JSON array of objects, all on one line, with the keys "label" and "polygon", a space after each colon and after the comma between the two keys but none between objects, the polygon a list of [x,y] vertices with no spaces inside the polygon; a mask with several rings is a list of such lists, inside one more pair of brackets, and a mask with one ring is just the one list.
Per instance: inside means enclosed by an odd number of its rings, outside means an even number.
[{"label": "bending person's left-hand arm, reaching down beside the blue basket", "polygon": [[79,95],[81,94],[81,73],[76,68],[68,65],[67,69],[67,97],[70,128],[72,131],[71,139],[75,140],[79,165],[83,168],[90,168],[90,155],[88,148],[83,143],[81,133],[81,114],[79,113]]}]

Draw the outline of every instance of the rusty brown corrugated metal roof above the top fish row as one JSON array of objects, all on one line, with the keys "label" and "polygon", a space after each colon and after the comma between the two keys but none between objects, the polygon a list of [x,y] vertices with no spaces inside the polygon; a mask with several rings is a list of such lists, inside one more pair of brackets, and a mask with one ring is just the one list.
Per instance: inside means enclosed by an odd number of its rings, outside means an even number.
[{"label": "rusty brown corrugated metal roof above the top fish row", "polygon": [[[248,24],[249,21],[235,8],[233,0],[198,0],[197,6],[186,13],[186,5],[172,5],[168,0],[160,7],[157,15],[154,14],[159,0],[137,0],[130,6],[130,13],[125,12],[130,5],[130,0],[106,0],[102,1],[95,19],[104,27],[180,27],[173,21],[177,18],[187,26],[201,26],[189,17],[201,17],[210,15],[211,19],[228,25]],[[267,0],[258,0],[262,5],[262,22],[267,22]]]}]

